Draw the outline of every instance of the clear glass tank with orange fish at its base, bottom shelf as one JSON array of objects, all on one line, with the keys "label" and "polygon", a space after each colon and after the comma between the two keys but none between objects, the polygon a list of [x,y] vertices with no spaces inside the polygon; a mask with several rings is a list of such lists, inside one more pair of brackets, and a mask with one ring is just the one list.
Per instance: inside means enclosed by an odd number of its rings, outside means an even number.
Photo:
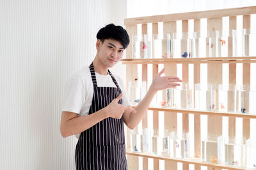
[{"label": "clear glass tank with orange fish at its base, bottom shelf", "polygon": [[223,138],[211,135],[201,141],[201,155],[204,162],[223,163]]}]

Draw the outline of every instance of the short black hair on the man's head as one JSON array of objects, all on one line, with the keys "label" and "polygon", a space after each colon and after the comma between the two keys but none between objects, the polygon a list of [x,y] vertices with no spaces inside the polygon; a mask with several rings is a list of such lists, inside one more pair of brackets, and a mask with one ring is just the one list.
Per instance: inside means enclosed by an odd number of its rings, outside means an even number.
[{"label": "short black hair on the man's head", "polygon": [[114,24],[108,24],[106,27],[102,27],[97,33],[97,39],[100,39],[102,43],[105,39],[115,39],[119,41],[124,48],[127,48],[130,42],[127,31],[123,27]]}]

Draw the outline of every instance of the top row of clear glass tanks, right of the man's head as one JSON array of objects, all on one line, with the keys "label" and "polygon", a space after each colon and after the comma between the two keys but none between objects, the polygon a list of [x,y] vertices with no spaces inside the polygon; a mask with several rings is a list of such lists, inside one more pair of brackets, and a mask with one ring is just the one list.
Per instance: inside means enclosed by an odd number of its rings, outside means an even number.
[{"label": "top row of clear glass tanks, right of the man's head", "polygon": [[[222,31],[208,31],[207,36],[200,32],[182,32],[181,34],[154,34],[150,36],[132,36],[132,58],[195,58],[195,57],[237,57],[237,31],[230,30],[228,36]],[[243,56],[256,56],[254,50],[256,32],[243,30]],[[152,45],[153,48],[152,49]]]}]

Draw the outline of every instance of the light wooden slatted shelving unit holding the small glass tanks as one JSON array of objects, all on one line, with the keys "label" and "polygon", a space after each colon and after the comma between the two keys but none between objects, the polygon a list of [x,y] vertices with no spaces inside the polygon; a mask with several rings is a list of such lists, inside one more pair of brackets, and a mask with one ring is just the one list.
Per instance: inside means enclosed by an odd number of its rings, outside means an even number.
[{"label": "light wooden slatted shelving unit holding the small glass tanks", "polygon": [[[237,16],[243,16],[243,29],[249,29],[251,23],[251,14],[256,14],[256,6],[243,7],[243,8],[232,8],[223,10],[211,10],[211,11],[197,11],[189,13],[175,13],[169,15],[157,15],[150,17],[139,17],[139,18],[126,18],[124,20],[126,30],[130,36],[136,35],[137,24],[141,24],[141,34],[148,34],[148,23],[152,23],[152,32],[150,34],[158,34],[158,23],[163,22],[163,33],[177,32],[177,21],[182,22],[182,31],[188,32],[189,22],[193,20],[193,31],[199,32],[201,27],[201,18],[207,18],[207,30],[208,31],[221,31],[223,29],[223,17],[229,17],[228,29],[236,29],[237,27]],[[237,48],[241,48],[238,46]],[[152,46],[154,50],[154,46]],[[228,49],[228,53],[229,53]],[[154,52],[152,52],[154,53]],[[126,50],[127,58],[132,56],[132,42]],[[229,55],[228,55],[229,56]],[[152,64],[152,78],[159,72],[159,64],[164,64],[166,76],[177,76],[177,64],[182,65],[182,81],[184,83],[189,82],[189,64],[193,64],[193,83],[200,83],[200,64],[207,64],[207,83],[221,84],[223,64],[229,65],[229,83],[236,84],[236,68],[237,63],[243,64],[243,84],[250,85],[250,68],[251,63],[256,62],[256,57],[204,57],[204,58],[171,58],[171,59],[122,59],[122,64],[126,66],[127,72],[127,88],[128,82],[138,80],[140,77],[141,81],[148,81],[148,65]],[[138,64],[141,64],[141,71],[138,71]],[[151,67],[151,66],[150,66]],[[138,73],[141,73],[139,76]],[[128,89],[127,89],[128,91]],[[218,95],[218,93],[216,93]],[[218,96],[216,97],[218,99]],[[195,101],[195,100],[194,100]],[[218,103],[218,101],[216,101]],[[200,115],[208,115],[208,134],[221,135],[222,134],[222,117],[228,117],[228,136],[236,136],[236,118],[243,118],[243,138],[250,138],[250,118],[256,118],[254,114],[243,114],[243,113],[229,113],[218,111],[202,111],[202,110],[185,110],[177,108],[156,108],[150,107],[148,110],[153,112],[153,129],[159,128],[159,111],[164,112],[164,129],[169,131],[177,131],[177,113],[182,113],[182,132],[189,131],[189,117],[188,113],[194,115],[194,138],[193,141],[195,148],[195,158],[191,159],[173,159],[166,156],[157,156],[150,153],[138,153],[130,152],[130,136],[129,129],[127,131],[127,162],[128,169],[139,169],[138,157],[143,157],[143,170],[148,169],[148,158],[154,159],[154,170],[159,169],[159,159],[165,160],[165,169],[176,170],[177,162],[182,162],[182,168],[184,170],[189,169],[189,164],[195,165],[195,170],[201,169],[201,166],[207,166],[209,170],[220,170],[220,169],[246,169],[246,167],[227,166],[223,164],[214,164],[209,162],[202,162],[201,157],[201,124]],[[218,122],[218,123],[216,123]],[[161,122],[162,123],[162,122]],[[142,120],[142,128],[147,128],[148,120],[144,117]],[[161,169],[162,170],[162,169]]]}]

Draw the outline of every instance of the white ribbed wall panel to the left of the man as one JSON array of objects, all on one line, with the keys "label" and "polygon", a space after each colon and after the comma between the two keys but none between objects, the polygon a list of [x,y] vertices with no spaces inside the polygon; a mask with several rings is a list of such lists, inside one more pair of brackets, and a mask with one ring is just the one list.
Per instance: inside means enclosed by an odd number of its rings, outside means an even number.
[{"label": "white ribbed wall panel to the left of the man", "polygon": [[60,134],[68,77],[95,57],[112,0],[0,1],[0,169],[72,169]]}]

